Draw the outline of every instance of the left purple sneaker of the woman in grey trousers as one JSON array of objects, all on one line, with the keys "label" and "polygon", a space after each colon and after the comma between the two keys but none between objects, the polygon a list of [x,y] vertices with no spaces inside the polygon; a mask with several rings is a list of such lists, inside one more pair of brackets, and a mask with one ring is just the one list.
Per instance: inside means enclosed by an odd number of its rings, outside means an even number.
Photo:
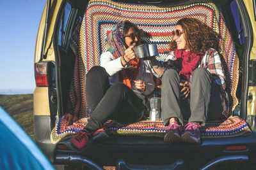
[{"label": "left purple sneaker of the woman in grey trousers", "polygon": [[164,141],[168,143],[180,142],[181,133],[182,133],[182,126],[179,125],[177,121],[172,122],[170,125],[168,125],[168,131],[164,135]]}]

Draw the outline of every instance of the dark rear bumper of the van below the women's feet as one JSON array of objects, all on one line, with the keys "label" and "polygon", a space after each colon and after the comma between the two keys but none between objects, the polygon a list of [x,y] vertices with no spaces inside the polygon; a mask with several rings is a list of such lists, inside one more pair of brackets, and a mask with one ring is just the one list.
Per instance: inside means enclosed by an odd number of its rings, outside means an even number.
[{"label": "dark rear bumper of the van below the women's feet", "polygon": [[[61,145],[59,143],[58,145]],[[227,150],[227,146],[246,146]],[[256,135],[202,139],[199,145],[164,143],[162,138],[116,137],[90,142],[83,152],[56,149],[56,163],[74,162],[100,169],[209,169],[223,164],[255,166]],[[100,168],[99,168],[100,167]]]}]

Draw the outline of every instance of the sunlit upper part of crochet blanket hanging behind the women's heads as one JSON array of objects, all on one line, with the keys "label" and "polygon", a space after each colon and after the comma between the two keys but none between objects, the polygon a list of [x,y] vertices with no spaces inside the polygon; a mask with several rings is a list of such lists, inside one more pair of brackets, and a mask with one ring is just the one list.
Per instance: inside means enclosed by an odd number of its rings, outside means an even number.
[{"label": "sunlit upper part of crochet blanket hanging behind the women's heads", "polygon": [[117,22],[129,20],[136,24],[146,33],[141,39],[142,43],[156,43],[159,52],[157,59],[164,60],[169,52],[170,32],[175,29],[177,21],[184,17],[197,18],[218,33],[218,52],[227,64],[227,87],[232,95],[230,108],[234,110],[238,103],[236,89],[239,60],[223,15],[211,0],[187,0],[163,5],[91,0],[84,13],[79,39],[86,73],[91,67],[100,65],[100,54],[106,52],[106,36]]}]

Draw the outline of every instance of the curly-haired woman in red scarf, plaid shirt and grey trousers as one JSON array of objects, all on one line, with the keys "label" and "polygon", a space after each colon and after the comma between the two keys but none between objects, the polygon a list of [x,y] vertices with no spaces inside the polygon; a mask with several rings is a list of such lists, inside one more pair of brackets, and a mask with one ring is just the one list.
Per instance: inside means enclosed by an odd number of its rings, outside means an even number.
[{"label": "curly-haired woman in red scarf, plaid shirt and grey trousers", "polygon": [[[161,108],[168,131],[164,141],[200,143],[200,127],[228,116],[226,78],[217,52],[217,34],[195,18],[182,18],[172,32],[165,62],[151,59],[162,76]],[[184,126],[183,120],[188,120]]]}]

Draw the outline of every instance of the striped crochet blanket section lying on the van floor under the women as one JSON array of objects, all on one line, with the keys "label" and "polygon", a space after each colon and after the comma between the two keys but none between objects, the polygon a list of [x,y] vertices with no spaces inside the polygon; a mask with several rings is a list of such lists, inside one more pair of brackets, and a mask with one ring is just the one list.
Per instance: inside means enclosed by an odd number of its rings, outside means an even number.
[{"label": "striped crochet blanket section lying on the van floor under the women", "polygon": [[[72,138],[87,124],[86,118],[81,118],[70,124],[72,115],[62,117],[51,133],[52,143]],[[134,124],[121,124],[115,120],[108,120],[103,127],[109,135],[120,136],[153,136],[163,138],[167,126],[163,122],[140,121]],[[207,122],[201,130],[201,138],[227,138],[245,136],[251,133],[250,127],[239,117],[230,117],[223,121]]]}]

